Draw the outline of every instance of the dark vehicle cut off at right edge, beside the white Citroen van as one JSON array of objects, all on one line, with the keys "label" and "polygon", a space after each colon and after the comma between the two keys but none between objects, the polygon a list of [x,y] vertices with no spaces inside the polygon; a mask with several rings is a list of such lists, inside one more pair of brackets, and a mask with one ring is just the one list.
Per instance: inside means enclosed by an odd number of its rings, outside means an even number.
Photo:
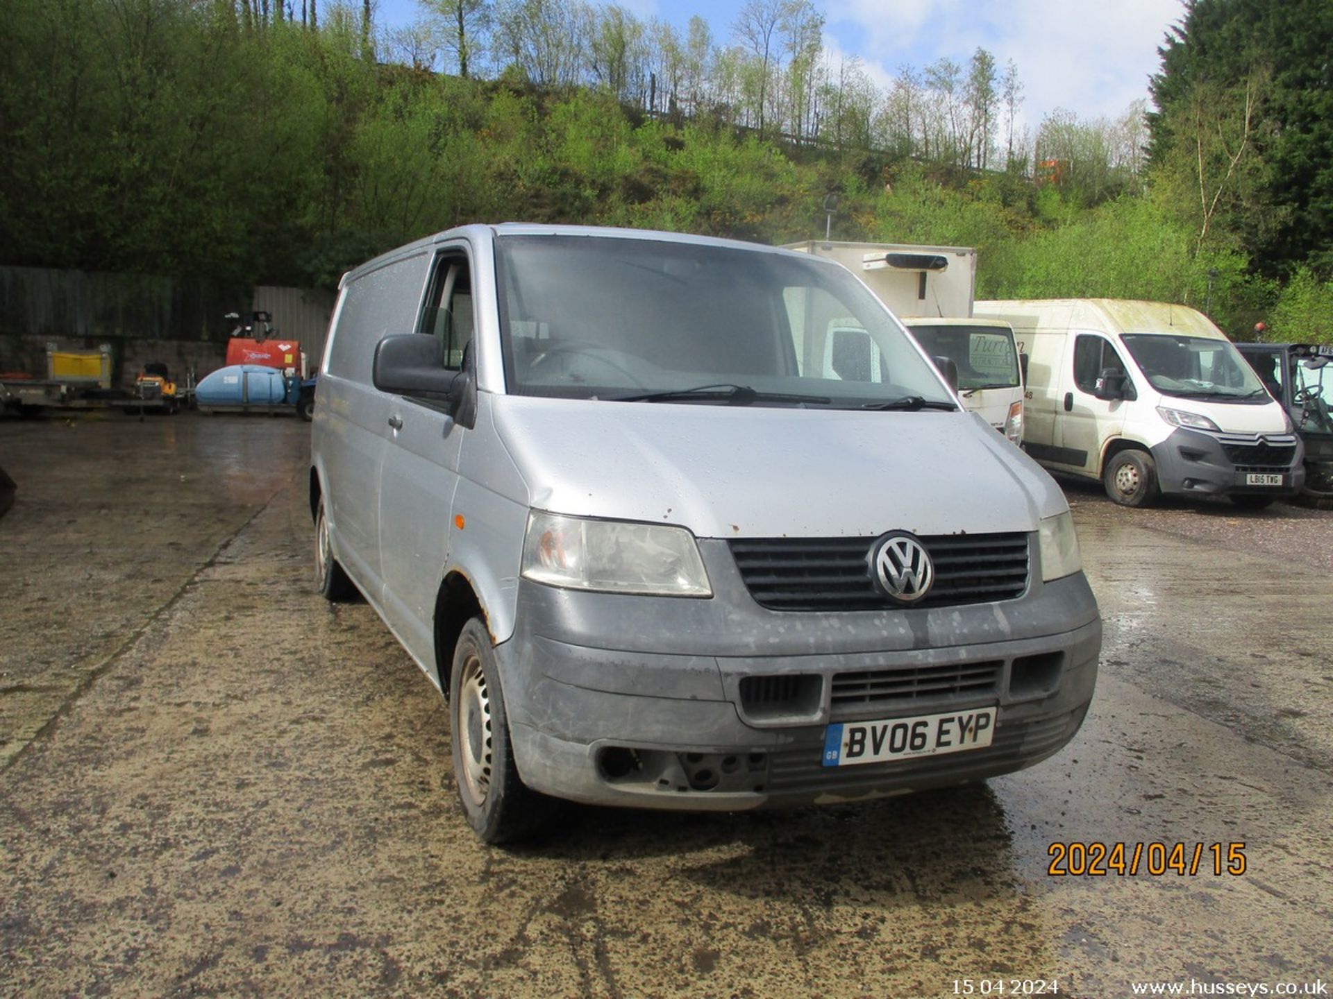
[{"label": "dark vehicle cut off at right edge, beside the white Citroen van", "polygon": [[1333,510],[1333,345],[1237,344],[1305,444],[1305,489],[1293,500]]}]

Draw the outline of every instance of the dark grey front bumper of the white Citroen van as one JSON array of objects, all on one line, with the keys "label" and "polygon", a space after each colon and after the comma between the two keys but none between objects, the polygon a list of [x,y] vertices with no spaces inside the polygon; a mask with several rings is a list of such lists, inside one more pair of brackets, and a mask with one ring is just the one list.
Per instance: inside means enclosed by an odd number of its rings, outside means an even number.
[{"label": "dark grey front bumper of the white Citroen van", "polygon": [[[1294,434],[1178,429],[1152,452],[1164,493],[1296,496],[1305,485],[1304,449]],[[1260,485],[1252,476],[1281,476],[1281,484]]]}]

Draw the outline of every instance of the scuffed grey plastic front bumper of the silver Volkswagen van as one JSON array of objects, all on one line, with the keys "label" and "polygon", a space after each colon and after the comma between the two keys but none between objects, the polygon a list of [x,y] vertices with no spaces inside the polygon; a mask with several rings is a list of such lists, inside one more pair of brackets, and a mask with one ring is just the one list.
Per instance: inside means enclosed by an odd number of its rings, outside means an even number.
[{"label": "scuffed grey plastic front bumper of the silver Volkswagen van", "polygon": [[[854,801],[1030,766],[1086,714],[1101,622],[1081,573],[1034,579],[1022,598],[1000,603],[781,613],[749,598],[722,542],[700,547],[712,599],[520,583],[517,629],[496,655],[527,785],[677,810]],[[833,681],[850,674],[878,677],[896,694],[849,702]],[[954,675],[984,679],[950,687]],[[921,679],[932,677],[945,679]],[[822,766],[830,722],[992,705],[986,749]]]}]

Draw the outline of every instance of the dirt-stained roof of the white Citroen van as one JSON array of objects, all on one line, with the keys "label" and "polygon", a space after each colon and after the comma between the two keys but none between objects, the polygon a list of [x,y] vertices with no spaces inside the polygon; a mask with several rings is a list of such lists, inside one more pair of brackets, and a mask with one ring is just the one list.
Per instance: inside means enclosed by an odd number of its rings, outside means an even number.
[{"label": "dirt-stained roof of the white Citroen van", "polygon": [[978,301],[978,316],[1025,329],[1105,329],[1112,333],[1178,333],[1226,340],[1204,313],[1188,305],[1133,298],[1013,298]]}]

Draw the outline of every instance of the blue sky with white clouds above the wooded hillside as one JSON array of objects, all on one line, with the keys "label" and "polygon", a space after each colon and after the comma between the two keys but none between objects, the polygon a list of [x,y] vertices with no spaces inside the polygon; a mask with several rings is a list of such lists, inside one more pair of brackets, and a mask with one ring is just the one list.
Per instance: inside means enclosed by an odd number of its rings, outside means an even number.
[{"label": "blue sky with white clouds above the wooded hillside", "polygon": [[[1056,108],[1080,119],[1118,117],[1148,97],[1157,48],[1184,16],[1181,0],[814,0],[826,17],[825,49],[858,56],[886,89],[901,65],[917,69],[946,56],[966,64],[977,47],[1022,81],[1022,123],[1036,132]],[[620,0],[640,17],[684,28],[700,15],[716,43],[732,40],[742,0]],[[381,24],[405,24],[416,0],[377,0]]]}]

